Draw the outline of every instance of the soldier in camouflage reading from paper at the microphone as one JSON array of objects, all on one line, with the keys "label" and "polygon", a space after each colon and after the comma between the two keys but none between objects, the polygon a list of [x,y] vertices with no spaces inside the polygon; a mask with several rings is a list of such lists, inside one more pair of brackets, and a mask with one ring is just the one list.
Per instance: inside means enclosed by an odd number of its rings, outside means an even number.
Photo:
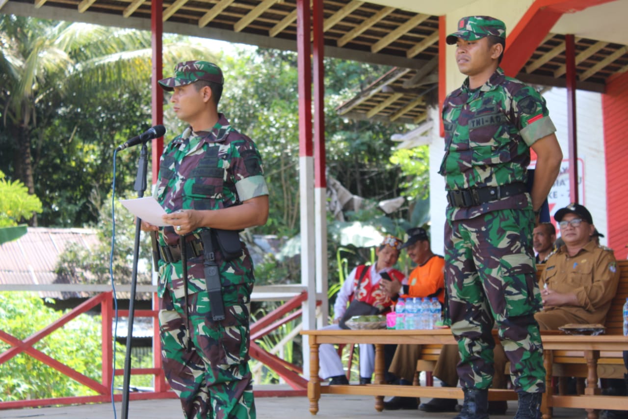
[{"label": "soldier in camouflage reading from paper at the microphone", "polygon": [[[237,230],[266,223],[268,187],[255,143],[217,111],[223,81],[220,68],[205,61],[177,64],[174,77],[159,81],[165,91],[173,91],[173,109],[189,126],[165,147],[160,160],[155,197],[166,210],[168,226],[143,222],[143,230],[160,232],[163,368],[187,419],[256,417],[248,365],[255,278]],[[215,229],[236,230],[232,237],[239,255],[225,256]],[[224,304],[220,321],[214,320],[219,309],[203,271],[201,235],[208,230]],[[185,254],[180,237],[185,237]]]}]

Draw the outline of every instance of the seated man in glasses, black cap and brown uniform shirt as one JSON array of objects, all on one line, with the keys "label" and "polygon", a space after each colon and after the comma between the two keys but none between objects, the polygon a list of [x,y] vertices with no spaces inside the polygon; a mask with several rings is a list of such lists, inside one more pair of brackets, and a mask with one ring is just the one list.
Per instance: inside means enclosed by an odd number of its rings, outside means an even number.
[{"label": "seated man in glasses, black cap and brown uniform shirt", "polygon": [[534,318],[541,330],[568,323],[604,324],[619,282],[615,255],[592,240],[595,226],[584,206],[569,204],[554,218],[565,244],[545,262],[543,311]]}]

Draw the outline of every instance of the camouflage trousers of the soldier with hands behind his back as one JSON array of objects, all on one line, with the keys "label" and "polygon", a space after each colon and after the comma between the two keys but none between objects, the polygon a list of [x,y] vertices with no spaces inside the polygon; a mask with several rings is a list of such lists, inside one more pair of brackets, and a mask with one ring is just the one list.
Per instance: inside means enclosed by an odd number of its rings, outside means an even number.
[{"label": "camouflage trousers of the soldier with hands behind his back", "polygon": [[497,210],[445,225],[447,316],[458,342],[463,388],[489,388],[497,328],[516,391],[545,389],[532,211]]}]

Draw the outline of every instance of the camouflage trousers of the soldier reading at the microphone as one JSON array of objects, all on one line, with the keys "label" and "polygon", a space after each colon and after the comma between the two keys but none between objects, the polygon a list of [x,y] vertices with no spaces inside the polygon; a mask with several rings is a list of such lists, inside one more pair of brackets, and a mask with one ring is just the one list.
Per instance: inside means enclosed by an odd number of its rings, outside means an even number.
[{"label": "camouflage trousers of the soldier reading at the microphone", "polygon": [[225,320],[219,322],[212,320],[206,291],[189,294],[189,323],[183,298],[166,289],[159,313],[161,357],[186,419],[256,417],[248,364],[252,288],[223,288]]}]

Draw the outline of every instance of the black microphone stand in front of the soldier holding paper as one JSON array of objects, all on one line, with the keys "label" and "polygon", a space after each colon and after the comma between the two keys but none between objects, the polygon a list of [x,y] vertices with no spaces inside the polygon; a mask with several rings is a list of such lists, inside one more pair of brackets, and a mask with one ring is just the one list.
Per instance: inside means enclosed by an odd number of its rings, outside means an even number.
[{"label": "black microphone stand in front of the soldier holding paper", "polygon": [[[139,153],[138,174],[135,178],[133,189],[138,192],[138,198],[144,196],[146,191],[146,172],[148,170],[148,150],[146,142],[142,143],[142,150]],[[135,243],[133,247],[133,272],[131,274],[131,297],[129,298],[129,321],[126,335],[126,357],[124,359],[124,381],[122,384],[122,419],[127,419],[129,415],[129,381],[131,379],[131,340],[133,339],[133,316],[135,310],[135,288],[138,282],[138,259],[139,259],[139,235],[141,233],[142,220],[139,218],[135,222]],[[116,366],[114,366],[114,371]],[[113,394],[112,394],[113,396]]]}]

